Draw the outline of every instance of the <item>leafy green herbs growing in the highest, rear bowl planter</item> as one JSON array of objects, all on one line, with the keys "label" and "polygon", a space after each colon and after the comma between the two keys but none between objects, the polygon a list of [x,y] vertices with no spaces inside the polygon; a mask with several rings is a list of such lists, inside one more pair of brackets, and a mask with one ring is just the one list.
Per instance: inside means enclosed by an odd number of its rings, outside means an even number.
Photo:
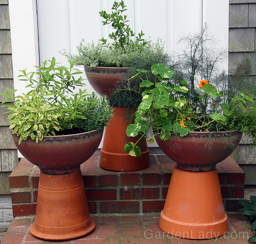
[{"label": "leafy green herbs growing in the highest, rear bowl planter", "polygon": [[69,54],[65,50],[61,53],[76,65],[129,67],[130,63],[125,56],[142,52],[149,43],[143,39],[144,33],[142,31],[135,36],[128,25],[127,15],[124,14],[126,10],[124,1],[114,1],[111,13],[99,12],[104,19],[103,25],[109,24],[113,29],[113,32],[109,34],[110,43],[104,37],[97,44],[84,44],[84,40],[82,40],[77,46],[78,55]]}]

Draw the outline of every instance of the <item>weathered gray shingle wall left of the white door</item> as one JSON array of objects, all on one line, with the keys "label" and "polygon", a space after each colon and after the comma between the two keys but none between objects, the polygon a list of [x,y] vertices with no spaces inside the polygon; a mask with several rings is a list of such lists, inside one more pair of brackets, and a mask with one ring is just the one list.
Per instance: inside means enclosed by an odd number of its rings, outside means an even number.
[{"label": "weathered gray shingle wall left of the white door", "polygon": [[[0,91],[13,88],[12,47],[8,0],[0,0]],[[5,98],[0,96],[1,101]],[[0,194],[9,193],[8,177],[18,163],[17,149],[12,141],[6,109],[0,107]],[[7,182],[6,182],[7,181]]]}]

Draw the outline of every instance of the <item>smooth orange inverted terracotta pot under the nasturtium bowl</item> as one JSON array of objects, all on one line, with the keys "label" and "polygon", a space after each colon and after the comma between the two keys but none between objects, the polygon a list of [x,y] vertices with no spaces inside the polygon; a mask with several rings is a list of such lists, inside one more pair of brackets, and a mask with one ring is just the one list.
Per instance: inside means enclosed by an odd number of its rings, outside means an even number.
[{"label": "smooth orange inverted terracotta pot under the nasturtium bowl", "polygon": [[188,172],[175,168],[160,229],[177,237],[210,239],[228,230],[217,170]]}]

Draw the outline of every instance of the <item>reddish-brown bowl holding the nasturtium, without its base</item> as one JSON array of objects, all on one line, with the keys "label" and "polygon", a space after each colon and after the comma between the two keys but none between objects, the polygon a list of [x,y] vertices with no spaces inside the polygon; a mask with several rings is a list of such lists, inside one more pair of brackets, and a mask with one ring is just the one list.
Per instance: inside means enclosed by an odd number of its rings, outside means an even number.
[{"label": "reddish-brown bowl holding the nasturtium, without its base", "polygon": [[241,140],[238,131],[228,132],[189,132],[181,137],[171,132],[167,141],[156,136],[158,146],[179,169],[187,171],[210,171],[216,164],[227,158]]}]

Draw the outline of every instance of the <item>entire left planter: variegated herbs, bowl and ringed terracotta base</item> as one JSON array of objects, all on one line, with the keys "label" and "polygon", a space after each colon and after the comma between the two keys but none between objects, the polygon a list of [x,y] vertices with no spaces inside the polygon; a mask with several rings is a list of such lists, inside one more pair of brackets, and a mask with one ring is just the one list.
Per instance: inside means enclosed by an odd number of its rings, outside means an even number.
[{"label": "entire left planter: variegated herbs, bowl and ringed terracotta base", "polygon": [[[38,202],[32,235],[46,240],[66,240],[90,233],[91,220],[80,164],[90,158],[112,116],[108,100],[98,99],[83,86],[81,74],[70,66],[44,61],[36,72],[22,70],[30,91],[6,105],[13,139],[22,155],[40,168]],[[39,75],[37,80],[35,77]],[[12,101],[16,90],[1,95]],[[5,105],[3,105],[5,106]]]}]

